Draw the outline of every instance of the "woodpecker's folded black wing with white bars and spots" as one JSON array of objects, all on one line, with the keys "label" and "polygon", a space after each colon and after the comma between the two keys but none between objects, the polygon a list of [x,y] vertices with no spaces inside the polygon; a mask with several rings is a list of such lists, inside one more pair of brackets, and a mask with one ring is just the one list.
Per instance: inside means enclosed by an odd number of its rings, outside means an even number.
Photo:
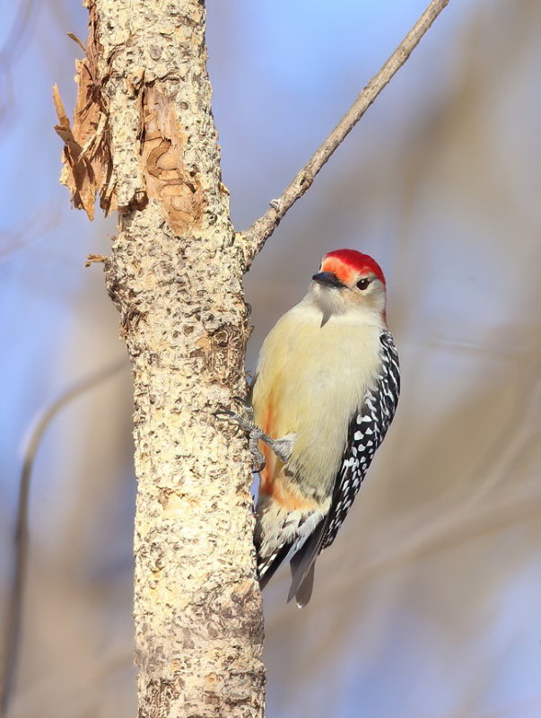
[{"label": "woodpecker's folded black wing with white bars and spots", "polygon": [[320,539],[320,550],[327,548],[335,540],[397,410],[400,393],[397,347],[388,331],[381,334],[380,343],[380,375],[374,389],[367,393],[364,405],[358,414],[353,416],[349,426],[342,467],[327,514],[326,530]]}]

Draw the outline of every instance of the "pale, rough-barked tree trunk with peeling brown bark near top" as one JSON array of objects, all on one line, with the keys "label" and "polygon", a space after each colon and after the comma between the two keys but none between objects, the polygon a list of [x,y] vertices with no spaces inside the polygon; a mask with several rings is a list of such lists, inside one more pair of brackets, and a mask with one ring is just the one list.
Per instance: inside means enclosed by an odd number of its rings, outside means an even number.
[{"label": "pale, rough-barked tree trunk with peeling brown bark near top", "polygon": [[214,416],[246,390],[249,327],[211,114],[205,7],[87,5],[93,76],[83,77],[83,61],[73,136],[88,116],[100,136],[72,154],[87,192],[92,146],[100,160],[110,155],[112,172],[100,171],[108,180],[94,189],[119,209],[106,276],[134,372],[139,714],[260,716],[250,458]]}]

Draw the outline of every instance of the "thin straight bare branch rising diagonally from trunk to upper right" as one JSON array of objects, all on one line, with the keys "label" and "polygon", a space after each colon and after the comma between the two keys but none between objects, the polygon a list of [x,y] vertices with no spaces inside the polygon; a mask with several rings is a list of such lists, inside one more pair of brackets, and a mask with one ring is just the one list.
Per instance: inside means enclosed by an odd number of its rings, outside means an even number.
[{"label": "thin straight bare branch rising diagonally from trunk to upper right", "polygon": [[372,77],[325,142],[319,146],[316,153],[297,174],[292,183],[284,189],[281,197],[274,199],[265,215],[259,217],[248,230],[240,233],[240,238],[246,242],[244,250],[248,267],[257,252],[262,249],[266,240],[275,231],[285,213],[311,187],[318,171],[321,170],[336,148],[342,144],[345,137],[349,135],[397,70],[404,65],[419,40],[448,3],[449,0],[432,0],[432,3],[414,24],[414,27],[407,33],[406,38],[402,40],[385,65],[381,67],[380,72]]}]

